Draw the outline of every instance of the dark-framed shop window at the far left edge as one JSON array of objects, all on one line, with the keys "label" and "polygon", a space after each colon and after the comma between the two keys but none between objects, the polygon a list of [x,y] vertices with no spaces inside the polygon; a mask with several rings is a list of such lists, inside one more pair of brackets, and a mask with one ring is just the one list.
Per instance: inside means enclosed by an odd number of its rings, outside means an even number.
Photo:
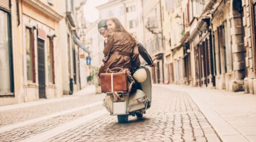
[{"label": "dark-framed shop window at the far left edge", "polygon": [[[0,1],[0,97],[14,97],[10,1]],[[0,105],[1,106],[1,105]]]}]

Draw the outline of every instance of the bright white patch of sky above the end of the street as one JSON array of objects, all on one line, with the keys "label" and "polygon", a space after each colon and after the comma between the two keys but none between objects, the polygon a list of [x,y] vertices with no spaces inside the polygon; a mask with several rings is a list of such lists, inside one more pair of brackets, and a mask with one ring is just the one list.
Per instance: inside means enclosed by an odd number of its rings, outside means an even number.
[{"label": "bright white patch of sky above the end of the street", "polygon": [[97,6],[103,5],[108,0],[88,0],[84,6],[86,21],[94,22],[98,19]]}]

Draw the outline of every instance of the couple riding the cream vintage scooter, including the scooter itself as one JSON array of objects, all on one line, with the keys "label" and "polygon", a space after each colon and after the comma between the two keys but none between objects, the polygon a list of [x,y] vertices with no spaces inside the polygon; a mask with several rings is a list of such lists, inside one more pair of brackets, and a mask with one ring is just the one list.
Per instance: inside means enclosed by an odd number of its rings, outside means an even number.
[{"label": "couple riding the cream vintage scooter, including the scooter itself", "polygon": [[[141,66],[139,55],[151,67],[155,66],[154,62],[143,45],[125,30],[117,18],[101,20],[98,23],[98,31],[105,38],[104,59],[102,60],[104,65],[100,67],[98,77],[101,73],[106,72],[126,72],[129,85],[127,93],[118,94],[113,91],[114,75],[111,74],[112,91],[110,95],[106,94],[103,105],[110,115],[117,115],[119,123],[126,123],[129,115],[142,118],[146,109],[151,106],[151,79],[149,70]],[[109,74],[102,75],[109,76]],[[104,76],[101,77],[104,79]],[[134,87],[133,78],[138,82]],[[102,86],[109,87],[108,83],[104,85],[103,83],[105,81],[102,82]],[[132,89],[133,91],[131,91]]]}]

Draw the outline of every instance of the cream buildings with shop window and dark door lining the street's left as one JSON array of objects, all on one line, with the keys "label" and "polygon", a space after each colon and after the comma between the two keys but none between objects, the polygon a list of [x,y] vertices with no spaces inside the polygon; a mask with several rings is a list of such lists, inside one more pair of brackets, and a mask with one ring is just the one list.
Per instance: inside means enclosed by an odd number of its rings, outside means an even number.
[{"label": "cream buildings with shop window and dark door lining the street's left", "polygon": [[59,1],[0,2],[0,106],[62,97],[70,91],[63,76],[63,61],[70,62],[65,54],[69,40],[62,37],[68,27],[65,8]]}]

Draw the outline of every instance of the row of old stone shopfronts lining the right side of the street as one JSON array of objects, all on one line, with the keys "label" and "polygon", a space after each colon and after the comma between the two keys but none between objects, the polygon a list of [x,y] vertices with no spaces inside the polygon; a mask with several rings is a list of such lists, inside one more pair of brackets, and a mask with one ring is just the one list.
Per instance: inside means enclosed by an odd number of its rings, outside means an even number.
[{"label": "row of old stone shopfronts lining the right side of the street", "polygon": [[175,17],[184,32],[175,32],[180,44],[171,46],[174,83],[255,94],[255,2],[184,0],[180,6],[182,16]]}]

